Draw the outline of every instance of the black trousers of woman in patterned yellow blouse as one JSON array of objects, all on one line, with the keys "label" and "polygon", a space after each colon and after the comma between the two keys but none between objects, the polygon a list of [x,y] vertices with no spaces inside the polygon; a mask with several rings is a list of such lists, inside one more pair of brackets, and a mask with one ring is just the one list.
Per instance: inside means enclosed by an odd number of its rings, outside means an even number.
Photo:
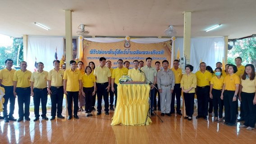
[{"label": "black trousers of woman in patterned yellow blouse", "polygon": [[184,96],[184,103],[185,103],[185,109],[186,109],[186,115],[188,117],[192,117],[194,113],[194,99],[195,99],[195,93],[183,93]]}]

